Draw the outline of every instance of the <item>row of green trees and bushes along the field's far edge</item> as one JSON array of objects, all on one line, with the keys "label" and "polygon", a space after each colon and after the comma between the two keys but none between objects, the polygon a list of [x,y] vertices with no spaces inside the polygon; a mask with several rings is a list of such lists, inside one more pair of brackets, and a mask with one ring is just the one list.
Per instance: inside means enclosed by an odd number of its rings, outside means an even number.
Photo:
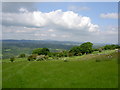
[{"label": "row of green trees and bushes along the field's far edge", "polygon": [[[93,51],[99,51],[102,52],[102,50],[113,50],[113,49],[119,49],[119,45],[105,45],[103,47],[93,49],[93,43],[86,42],[81,44],[80,46],[74,46],[70,50],[64,50],[61,52],[50,52],[48,48],[36,48],[32,51],[32,54],[27,57],[28,61],[41,61],[44,59],[52,58],[52,59],[58,59],[60,57],[71,57],[71,56],[81,56],[84,54],[92,53]],[[26,57],[25,54],[20,54],[19,58]],[[13,62],[15,60],[14,57],[10,58],[10,61]]]}]

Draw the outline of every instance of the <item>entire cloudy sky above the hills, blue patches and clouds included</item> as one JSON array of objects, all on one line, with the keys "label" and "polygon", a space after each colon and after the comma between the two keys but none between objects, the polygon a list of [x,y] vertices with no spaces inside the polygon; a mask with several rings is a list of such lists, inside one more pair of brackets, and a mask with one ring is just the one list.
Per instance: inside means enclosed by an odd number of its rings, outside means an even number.
[{"label": "entire cloudy sky above the hills, blue patches and clouds included", "polygon": [[118,43],[117,2],[4,2],[3,39]]}]

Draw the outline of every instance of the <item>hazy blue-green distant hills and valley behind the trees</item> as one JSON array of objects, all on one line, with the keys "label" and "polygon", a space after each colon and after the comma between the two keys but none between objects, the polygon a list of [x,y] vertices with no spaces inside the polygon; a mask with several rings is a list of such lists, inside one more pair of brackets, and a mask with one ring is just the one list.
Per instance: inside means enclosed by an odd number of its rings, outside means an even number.
[{"label": "hazy blue-green distant hills and valley behind the trees", "polygon": [[[79,46],[84,42],[54,41],[54,40],[2,40],[3,58],[16,56],[21,53],[31,54],[35,48],[49,48],[52,52],[69,50],[73,46]],[[93,48],[104,46],[105,44],[95,43]]]}]

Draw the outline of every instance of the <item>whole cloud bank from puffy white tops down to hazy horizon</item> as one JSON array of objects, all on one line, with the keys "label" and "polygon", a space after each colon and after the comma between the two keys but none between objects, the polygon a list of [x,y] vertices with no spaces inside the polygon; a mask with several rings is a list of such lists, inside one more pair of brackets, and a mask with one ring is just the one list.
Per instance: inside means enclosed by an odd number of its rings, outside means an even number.
[{"label": "whole cloud bank from puffy white tops down to hazy horizon", "polygon": [[19,13],[3,13],[3,38],[117,42],[117,28],[100,30],[89,17],[73,11],[55,10],[44,13],[25,10],[20,10]]}]

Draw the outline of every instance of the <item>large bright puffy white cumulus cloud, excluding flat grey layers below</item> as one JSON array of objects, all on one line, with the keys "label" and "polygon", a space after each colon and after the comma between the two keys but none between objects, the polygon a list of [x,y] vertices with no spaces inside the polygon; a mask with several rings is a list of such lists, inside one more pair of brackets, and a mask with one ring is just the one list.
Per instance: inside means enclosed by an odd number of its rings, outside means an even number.
[{"label": "large bright puffy white cumulus cloud, excluding flat grey layers below", "polygon": [[20,13],[3,13],[3,25],[24,27],[52,27],[66,30],[80,30],[95,32],[99,26],[91,23],[89,17],[80,16],[73,11],[62,10],[44,13],[41,11],[28,12],[25,8],[19,9]]}]

